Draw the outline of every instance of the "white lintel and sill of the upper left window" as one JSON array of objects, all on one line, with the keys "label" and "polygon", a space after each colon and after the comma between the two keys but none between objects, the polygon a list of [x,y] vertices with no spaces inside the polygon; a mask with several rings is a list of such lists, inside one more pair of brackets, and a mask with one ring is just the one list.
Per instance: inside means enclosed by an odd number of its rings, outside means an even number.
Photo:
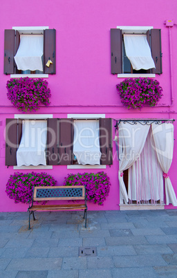
[{"label": "white lintel and sill of the upper left window", "polygon": [[[48,29],[48,26],[13,26],[12,30],[19,31],[19,34],[44,34],[44,30]],[[48,78],[48,74],[10,74],[11,78],[20,78],[20,77],[30,77],[30,78]]]}]

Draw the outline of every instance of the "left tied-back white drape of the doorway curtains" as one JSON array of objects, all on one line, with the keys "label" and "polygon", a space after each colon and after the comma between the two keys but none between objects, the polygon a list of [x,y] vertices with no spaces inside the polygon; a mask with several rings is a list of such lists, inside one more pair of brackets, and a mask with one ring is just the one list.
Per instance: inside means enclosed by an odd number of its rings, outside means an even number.
[{"label": "left tied-back white drape of the doorway curtains", "polygon": [[124,185],[122,173],[129,169],[138,160],[145,145],[149,125],[129,124],[120,122],[119,125],[119,182],[120,182],[120,203],[128,203],[129,198]]}]

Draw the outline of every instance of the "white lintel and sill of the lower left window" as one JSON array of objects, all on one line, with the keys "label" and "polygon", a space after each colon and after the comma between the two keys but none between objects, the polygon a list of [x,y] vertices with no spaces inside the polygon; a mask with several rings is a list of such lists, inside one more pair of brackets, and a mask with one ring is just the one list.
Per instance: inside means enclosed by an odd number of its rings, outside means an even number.
[{"label": "white lintel and sill of the lower left window", "polygon": [[[23,118],[26,120],[34,120],[34,119],[41,119],[44,120],[46,118],[53,118],[53,114],[15,114],[14,115],[15,119],[19,119],[19,118]],[[14,170],[24,170],[24,169],[30,169],[30,170],[34,170],[34,169],[53,169],[53,165],[38,165],[38,166],[13,166]]]}]

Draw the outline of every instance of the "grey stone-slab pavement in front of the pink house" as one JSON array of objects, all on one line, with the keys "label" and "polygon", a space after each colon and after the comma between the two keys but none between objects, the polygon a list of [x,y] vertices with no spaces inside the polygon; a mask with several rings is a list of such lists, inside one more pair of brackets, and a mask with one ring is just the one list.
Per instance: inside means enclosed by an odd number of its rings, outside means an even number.
[{"label": "grey stone-slab pavement in front of the pink house", "polygon": [[0,277],[177,277],[177,210],[87,215],[36,212],[28,230],[27,212],[1,212]]}]

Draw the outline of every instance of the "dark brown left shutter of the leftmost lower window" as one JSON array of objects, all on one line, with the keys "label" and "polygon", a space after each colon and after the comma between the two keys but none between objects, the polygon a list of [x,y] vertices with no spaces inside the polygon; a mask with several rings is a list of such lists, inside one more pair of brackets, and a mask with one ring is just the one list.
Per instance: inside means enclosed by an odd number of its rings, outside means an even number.
[{"label": "dark brown left shutter of the leftmost lower window", "polygon": [[16,153],[22,133],[22,121],[6,119],[6,165],[17,165]]}]

